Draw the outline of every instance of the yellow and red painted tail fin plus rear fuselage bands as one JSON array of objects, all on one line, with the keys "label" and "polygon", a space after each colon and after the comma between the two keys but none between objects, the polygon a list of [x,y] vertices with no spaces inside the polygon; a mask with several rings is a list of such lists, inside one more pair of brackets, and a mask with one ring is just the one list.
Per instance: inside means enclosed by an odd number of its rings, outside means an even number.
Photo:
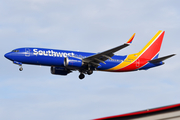
[{"label": "yellow and red painted tail fin plus rear fuselage bands", "polygon": [[114,67],[117,72],[137,70],[145,66],[148,61],[157,59],[165,31],[158,31],[156,35],[138,53],[130,54],[123,63]]}]

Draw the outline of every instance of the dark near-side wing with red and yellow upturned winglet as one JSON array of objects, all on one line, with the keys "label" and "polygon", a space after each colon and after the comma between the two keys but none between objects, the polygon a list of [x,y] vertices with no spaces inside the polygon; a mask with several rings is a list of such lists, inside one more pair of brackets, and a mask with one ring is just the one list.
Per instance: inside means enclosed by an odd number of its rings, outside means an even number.
[{"label": "dark near-side wing with red and yellow upturned winglet", "polygon": [[101,53],[97,53],[95,55],[89,56],[87,58],[82,59],[84,63],[87,64],[91,64],[95,67],[100,66],[99,63],[104,63],[106,64],[104,61],[106,61],[107,59],[111,59],[112,56],[114,56],[114,53],[129,46],[132,43],[132,40],[135,36],[135,33],[132,35],[132,37],[123,45],[117,46],[115,48],[106,50],[104,52]]}]

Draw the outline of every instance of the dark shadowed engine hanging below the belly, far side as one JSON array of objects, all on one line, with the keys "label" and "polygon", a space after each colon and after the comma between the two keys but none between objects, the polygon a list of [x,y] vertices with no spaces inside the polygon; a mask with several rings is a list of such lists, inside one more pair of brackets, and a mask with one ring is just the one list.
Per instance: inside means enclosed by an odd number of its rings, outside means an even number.
[{"label": "dark shadowed engine hanging below the belly, far side", "polygon": [[70,72],[71,72],[70,70],[67,70],[67,69],[65,69],[63,67],[51,66],[51,74],[54,74],[54,75],[67,75]]}]

